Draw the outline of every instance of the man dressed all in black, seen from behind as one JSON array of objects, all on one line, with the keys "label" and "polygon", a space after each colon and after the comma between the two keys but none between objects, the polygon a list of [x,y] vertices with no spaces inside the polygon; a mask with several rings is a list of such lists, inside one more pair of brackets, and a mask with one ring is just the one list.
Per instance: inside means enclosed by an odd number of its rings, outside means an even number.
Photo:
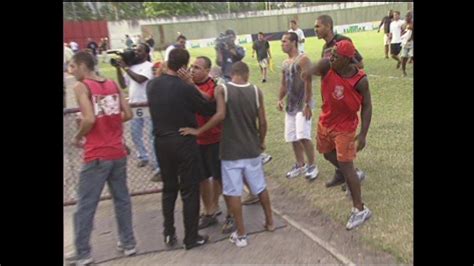
[{"label": "man dressed all in black, seen from behind", "polygon": [[203,176],[199,147],[195,136],[181,136],[178,130],[196,128],[196,113],[211,116],[216,111],[215,103],[204,99],[197,88],[177,76],[179,69],[186,69],[189,57],[185,49],[173,49],[167,72],[147,85],[155,150],[163,178],[165,243],[169,247],[176,244],[174,208],[179,191],[183,201],[185,249],[203,245],[209,237],[198,235],[199,183]]}]

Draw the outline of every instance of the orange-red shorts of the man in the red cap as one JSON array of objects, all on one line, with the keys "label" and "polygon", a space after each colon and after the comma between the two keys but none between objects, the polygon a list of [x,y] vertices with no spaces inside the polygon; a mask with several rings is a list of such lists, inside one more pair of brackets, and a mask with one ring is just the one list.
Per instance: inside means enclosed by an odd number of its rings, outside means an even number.
[{"label": "orange-red shorts of the man in the red cap", "polygon": [[356,158],[356,132],[329,131],[318,123],[316,145],[319,153],[329,153],[336,150],[337,161],[352,162]]}]

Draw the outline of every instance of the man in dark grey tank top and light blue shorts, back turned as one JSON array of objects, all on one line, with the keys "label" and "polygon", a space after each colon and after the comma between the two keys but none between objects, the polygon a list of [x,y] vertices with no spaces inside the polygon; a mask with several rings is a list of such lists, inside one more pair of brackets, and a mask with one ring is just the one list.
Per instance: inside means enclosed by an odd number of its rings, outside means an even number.
[{"label": "man in dark grey tank top and light blue shorts, back turned", "polygon": [[262,91],[248,82],[249,68],[243,62],[232,65],[232,81],[216,88],[217,112],[202,127],[181,128],[182,135],[199,135],[223,123],[220,142],[223,194],[235,219],[237,230],[230,241],[238,247],[247,246],[240,196],[243,179],[251,192],[258,195],[265,213],[265,229],[273,231],[270,196],[266,188],[260,153],[265,150],[267,121]]}]

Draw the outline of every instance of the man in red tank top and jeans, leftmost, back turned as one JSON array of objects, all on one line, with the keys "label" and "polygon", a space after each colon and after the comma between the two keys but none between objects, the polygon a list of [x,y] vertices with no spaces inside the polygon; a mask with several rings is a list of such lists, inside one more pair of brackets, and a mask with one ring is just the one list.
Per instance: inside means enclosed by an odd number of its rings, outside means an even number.
[{"label": "man in red tank top and jeans, leftmost, back turned", "polygon": [[91,54],[75,54],[70,70],[78,80],[74,93],[82,114],[79,131],[72,144],[84,148],[84,164],[79,175],[77,209],[74,213],[76,254],[66,261],[87,265],[93,261],[89,240],[94,213],[105,183],[110,187],[116,210],[120,236],[117,247],[126,256],[136,253],[122,127],[122,123],[130,120],[133,114],[117,84],[95,74]]}]

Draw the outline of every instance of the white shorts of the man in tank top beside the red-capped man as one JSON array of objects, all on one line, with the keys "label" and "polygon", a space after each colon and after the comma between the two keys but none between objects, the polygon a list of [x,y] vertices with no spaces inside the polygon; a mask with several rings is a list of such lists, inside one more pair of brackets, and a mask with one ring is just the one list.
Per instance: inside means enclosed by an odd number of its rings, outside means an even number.
[{"label": "white shorts of the man in tank top beside the red-capped man", "polygon": [[311,121],[312,119],[306,120],[303,112],[298,112],[296,115],[285,112],[285,141],[311,140]]}]

